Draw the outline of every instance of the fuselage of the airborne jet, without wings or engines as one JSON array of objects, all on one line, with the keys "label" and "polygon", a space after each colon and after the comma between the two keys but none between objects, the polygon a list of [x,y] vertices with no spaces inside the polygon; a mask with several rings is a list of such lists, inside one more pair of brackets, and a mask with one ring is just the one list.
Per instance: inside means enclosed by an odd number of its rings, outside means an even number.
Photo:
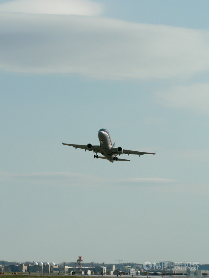
[{"label": "fuselage of the airborne jet, without wings or engines", "polygon": [[113,158],[115,157],[115,155],[111,153],[111,148],[113,147],[113,145],[108,131],[100,129],[98,131],[98,137],[101,147],[101,154],[105,156],[107,160],[113,162]]}]

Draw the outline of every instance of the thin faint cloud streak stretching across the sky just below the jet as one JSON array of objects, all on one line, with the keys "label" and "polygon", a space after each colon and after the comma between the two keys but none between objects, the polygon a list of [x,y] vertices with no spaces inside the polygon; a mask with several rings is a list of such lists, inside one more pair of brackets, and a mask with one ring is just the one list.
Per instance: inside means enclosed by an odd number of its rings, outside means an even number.
[{"label": "thin faint cloud streak stretching across the sky just below the jet", "polygon": [[0,171],[0,181],[8,185],[19,186],[22,184],[33,184],[33,186],[70,186],[70,187],[140,187],[165,192],[193,193],[198,195],[209,195],[209,184],[182,184],[180,181],[168,178],[121,178],[111,179],[95,175],[75,174],[66,172],[42,172],[42,173],[9,173]]}]

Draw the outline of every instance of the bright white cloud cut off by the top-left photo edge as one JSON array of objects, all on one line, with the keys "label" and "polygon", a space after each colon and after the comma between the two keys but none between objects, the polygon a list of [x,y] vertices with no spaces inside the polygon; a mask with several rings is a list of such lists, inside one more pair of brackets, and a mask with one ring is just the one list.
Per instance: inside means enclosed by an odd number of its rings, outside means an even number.
[{"label": "bright white cloud cut off by the top-left photo edge", "polygon": [[0,11],[57,15],[99,15],[102,5],[88,0],[16,0],[0,4]]}]

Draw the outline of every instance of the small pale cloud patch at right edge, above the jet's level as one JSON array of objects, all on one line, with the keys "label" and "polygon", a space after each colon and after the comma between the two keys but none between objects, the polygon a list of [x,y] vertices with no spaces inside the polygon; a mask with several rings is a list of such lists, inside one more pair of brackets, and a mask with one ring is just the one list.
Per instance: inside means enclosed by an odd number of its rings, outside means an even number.
[{"label": "small pale cloud patch at right edge, above the jet's level", "polygon": [[156,93],[165,107],[184,108],[198,114],[209,114],[209,84],[195,83],[167,88]]}]

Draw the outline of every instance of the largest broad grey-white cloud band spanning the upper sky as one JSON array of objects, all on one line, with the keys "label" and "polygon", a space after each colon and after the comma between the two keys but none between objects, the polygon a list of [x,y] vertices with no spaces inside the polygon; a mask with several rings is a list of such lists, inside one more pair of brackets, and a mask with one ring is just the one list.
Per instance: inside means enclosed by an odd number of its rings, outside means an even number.
[{"label": "largest broad grey-white cloud band spanning the upper sky", "polygon": [[167,79],[209,70],[209,32],[76,15],[1,13],[0,69]]}]

